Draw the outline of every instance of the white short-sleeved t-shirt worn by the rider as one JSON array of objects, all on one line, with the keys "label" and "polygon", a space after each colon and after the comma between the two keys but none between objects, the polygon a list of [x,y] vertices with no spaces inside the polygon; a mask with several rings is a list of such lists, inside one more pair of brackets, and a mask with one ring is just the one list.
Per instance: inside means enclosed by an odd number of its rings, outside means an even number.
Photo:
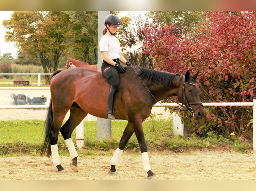
[{"label": "white short-sleeved t-shirt worn by the rider", "polygon": [[99,42],[100,51],[108,52],[112,60],[120,58],[121,47],[118,38],[115,36],[103,35]]}]

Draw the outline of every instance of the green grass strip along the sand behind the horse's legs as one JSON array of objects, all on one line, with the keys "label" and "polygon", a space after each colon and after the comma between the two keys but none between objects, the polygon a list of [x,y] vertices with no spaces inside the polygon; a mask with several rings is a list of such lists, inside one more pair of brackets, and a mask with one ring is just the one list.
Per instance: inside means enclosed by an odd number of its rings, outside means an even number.
[{"label": "green grass strip along the sand behind the horse's legs", "polygon": [[[64,121],[65,122],[65,121]],[[97,140],[97,121],[84,121],[84,147],[79,155],[112,155],[127,121],[112,121],[112,139]],[[43,120],[0,120],[0,156],[32,154],[39,155],[44,138]],[[191,134],[185,137],[173,135],[171,120],[151,118],[143,122],[145,139],[149,151],[187,152],[197,149],[230,150],[250,152],[251,142],[242,142],[238,137],[227,139],[209,132],[208,137],[198,137]],[[76,145],[76,130],[72,133],[72,140]],[[69,155],[65,141],[59,134],[59,153]],[[139,152],[139,144],[133,134],[126,150]]]}]

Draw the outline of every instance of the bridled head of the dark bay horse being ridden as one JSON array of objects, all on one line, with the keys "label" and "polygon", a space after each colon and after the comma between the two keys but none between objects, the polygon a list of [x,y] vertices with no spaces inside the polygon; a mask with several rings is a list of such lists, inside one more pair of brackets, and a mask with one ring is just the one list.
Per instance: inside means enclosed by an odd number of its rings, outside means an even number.
[{"label": "bridled head of the dark bay horse being ridden", "polygon": [[178,100],[186,105],[188,111],[194,112],[195,119],[201,119],[204,116],[203,104],[200,99],[200,89],[196,83],[199,71],[190,76],[189,70],[183,78],[182,88],[178,92]]}]

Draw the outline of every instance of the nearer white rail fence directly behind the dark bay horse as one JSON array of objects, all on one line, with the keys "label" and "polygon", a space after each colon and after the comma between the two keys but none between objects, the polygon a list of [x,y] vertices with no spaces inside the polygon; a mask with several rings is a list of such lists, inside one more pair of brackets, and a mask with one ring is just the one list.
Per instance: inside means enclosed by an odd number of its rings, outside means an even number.
[{"label": "nearer white rail fence directly behind the dark bay horse", "polygon": [[[49,87],[0,87],[0,90],[49,90]],[[178,106],[177,103],[156,103],[155,107],[162,106]],[[256,97],[253,98],[253,102],[206,102],[203,103],[203,106],[252,106],[253,109],[253,150],[256,150]],[[48,105],[0,105],[0,109],[33,109],[33,108],[48,108]],[[80,129],[80,133],[78,135],[78,129]],[[82,133],[82,134],[81,134]],[[77,128],[77,140],[83,139],[81,138],[83,135],[83,129],[81,127]],[[80,145],[81,145],[80,140]]]}]

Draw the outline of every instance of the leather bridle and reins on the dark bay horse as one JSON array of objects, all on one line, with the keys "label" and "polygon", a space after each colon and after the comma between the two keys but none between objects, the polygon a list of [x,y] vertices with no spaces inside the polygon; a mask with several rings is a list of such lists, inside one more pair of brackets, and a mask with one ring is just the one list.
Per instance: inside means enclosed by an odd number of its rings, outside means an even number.
[{"label": "leather bridle and reins on the dark bay horse", "polygon": [[[135,74],[138,76],[138,73],[137,71],[135,70],[134,66],[132,65],[131,66],[132,69],[134,70]],[[145,83],[142,81],[142,79],[138,76],[138,78],[140,79],[141,83],[143,84],[143,86],[147,89],[147,91],[150,93],[150,95],[158,102],[160,103],[161,105],[165,106],[164,104],[162,104],[160,101],[158,101],[154,95],[152,95],[152,93],[149,91],[149,89],[147,88],[147,86],[145,85]],[[182,110],[187,110],[188,112],[196,112],[196,110],[202,105],[203,106],[203,103],[202,102],[192,102],[190,103],[188,100],[187,100],[187,97],[186,97],[186,93],[185,93],[185,87],[184,85],[186,84],[189,84],[189,85],[193,85],[193,86],[198,86],[198,84],[192,84],[192,83],[189,83],[189,82],[185,82],[184,83],[184,76],[182,76],[183,78],[183,82],[182,82],[182,98],[183,98],[183,95],[184,95],[184,100],[187,102],[187,105],[184,105],[183,103],[178,103],[177,101],[175,101],[174,99],[172,99],[171,97],[168,97],[171,101],[177,103],[180,107],[179,109],[175,109],[175,108],[170,108],[168,107],[169,109],[173,109],[173,110],[179,110],[179,111],[182,111]],[[193,111],[193,109],[190,107],[190,105],[199,105],[195,111]],[[185,107],[185,109],[181,109],[181,107]]]}]

